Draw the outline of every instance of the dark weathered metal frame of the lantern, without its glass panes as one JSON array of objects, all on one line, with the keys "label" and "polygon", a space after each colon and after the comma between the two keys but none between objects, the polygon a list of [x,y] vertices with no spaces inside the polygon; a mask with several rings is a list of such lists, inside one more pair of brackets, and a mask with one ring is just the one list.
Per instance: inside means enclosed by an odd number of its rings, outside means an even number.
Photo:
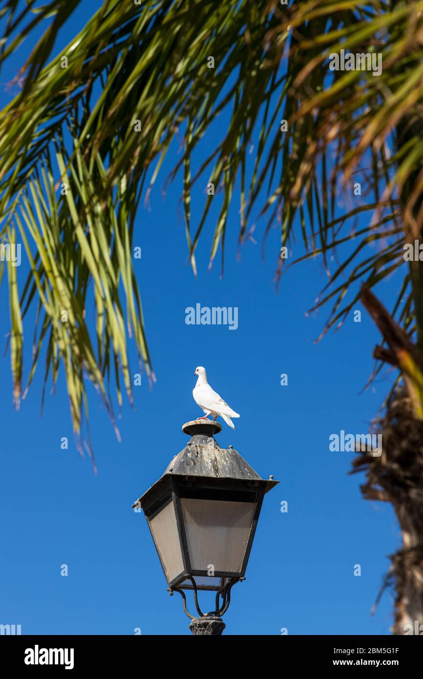
[{"label": "dark weathered metal frame of the lantern, without its glass panes", "polygon": [[[246,566],[249,561],[265,493],[279,483],[274,481],[273,477],[269,480],[262,479],[240,454],[232,448],[221,449],[213,439],[213,434],[220,430],[219,422],[211,422],[210,420],[194,420],[194,422],[187,422],[187,424],[183,425],[184,433],[191,435],[188,445],[170,462],[164,475],[153,483],[151,488],[139,500],[132,504],[132,507],[141,507],[144,511],[151,537],[153,538],[155,549],[168,583],[170,595],[174,591],[181,594],[184,611],[191,619],[194,619],[194,616],[187,610],[184,590],[194,592],[194,604],[200,617],[221,617],[226,612],[230,603],[232,587],[245,579]],[[213,464],[210,463],[210,445],[214,445],[216,449]],[[195,464],[193,464],[193,456]],[[198,473],[190,473],[193,467]],[[196,577],[206,577],[210,574],[208,570],[199,570],[191,567],[181,506],[183,498],[251,502],[255,504],[240,570],[235,572],[215,570],[213,578],[219,578],[219,583],[213,581],[210,585],[202,585],[196,582]],[[160,546],[156,542],[153,528],[151,528],[151,520],[167,507],[170,502],[172,502],[176,518],[179,548],[183,563],[182,572],[172,577],[172,579],[169,579],[166,573],[160,553]],[[198,604],[198,591],[216,592],[215,611],[206,614],[202,612]]]}]

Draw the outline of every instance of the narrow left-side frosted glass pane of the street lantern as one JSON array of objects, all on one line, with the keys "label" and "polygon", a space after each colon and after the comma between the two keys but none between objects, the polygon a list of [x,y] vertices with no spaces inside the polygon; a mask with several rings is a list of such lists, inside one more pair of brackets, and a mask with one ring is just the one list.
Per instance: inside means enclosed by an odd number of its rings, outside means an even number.
[{"label": "narrow left-side frosted glass pane of the street lantern", "polygon": [[149,519],[149,524],[155,545],[162,559],[166,578],[168,583],[170,583],[172,579],[184,570],[177,517],[171,499],[152,519]]}]

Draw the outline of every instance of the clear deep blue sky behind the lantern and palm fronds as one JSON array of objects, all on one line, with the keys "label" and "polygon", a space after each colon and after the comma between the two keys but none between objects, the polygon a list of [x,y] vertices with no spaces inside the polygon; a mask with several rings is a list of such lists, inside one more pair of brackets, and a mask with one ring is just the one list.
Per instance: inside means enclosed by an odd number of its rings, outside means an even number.
[{"label": "clear deep blue sky behind the lantern and palm fronds", "polygon": [[[71,39],[96,3],[79,9],[62,32]],[[22,64],[23,45],[1,73],[5,83]],[[217,126],[227,126],[223,114]],[[212,137],[206,140],[213,143]],[[238,197],[229,215],[225,273],[217,260],[208,271],[213,213],[198,250],[198,277],[187,261],[181,208],[181,177],[161,187],[176,162],[177,145],[151,195],[141,206],[134,261],[147,339],[157,382],[134,387],[126,401],[118,443],[94,388],[89,388],[90,426],[98,476],[73,441],[62,372],[56,394],[48,392],[40,418],[43,364],[19,412],[12,407],[10,356],[1,352],[0,407],[0,623],[20,624],[22,634],[189,634],[181,598],[170,598],[143,515],[131,504],[186,445],[181,425],[200,414],[192,398],[197,365],[241,418],[224,423],[217,442],[233,445],[264,478],[280,480],[265,497],[246,581],[232,591],[225,634],[389,634],[392,597],[373,606],[401,535],[390,506],[361,498],[363,475],[348,476],[352,453],[329,451],[329,436],[344,429],[367,433],[391,384],[384,371],[362,392],[380,341],[363,310],[319,344],[329,308],[306,317],[326,277],[319,260],[291,268],[276,293],[278,232],[270,234],[266,259],[257,244],[237,257]],[[193,196],[194,217],[204,194]],[[361,222],[361,225],[364,221]],[[300,246],[298,246],[300,247]],[[295,253],[297,254],[297,253]],[[300,254],[298,252],[298,254]],[[20,286],[25,262],[18,270]],[[378,294],[388,304],[399,278]],[[185,308],[238,307],[238,329],[186,325]],[[7,282],[0,288],[0,337],[9,331]],[[359,306],[357,308],[360,308]],[[25,330],[24,378],[31,360],[33,326]],[[4,347],[6,340],[4,339]],[[132,352],[133,372],[136,372]],[[280,385],[281,373],[288,385]],[[60,449],[68,437],[69,449]],[[287,500],[289,511],[281,513]],[[69,574],[60,576],[62,564]],[[361,576],[354,576],[354,564]],[[205,595],[206,596],[206,595]],[[208,604],[204,604],[207,608]]]}]

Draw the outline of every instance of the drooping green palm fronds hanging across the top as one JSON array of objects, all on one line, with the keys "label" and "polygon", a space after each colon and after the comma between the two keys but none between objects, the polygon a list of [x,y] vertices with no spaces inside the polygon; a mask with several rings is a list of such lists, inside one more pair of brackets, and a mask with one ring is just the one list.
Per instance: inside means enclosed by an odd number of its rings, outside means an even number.
[{"label": "drooping green palm fronds hanging across the top", "polygon": [[[151,371],[130,259],[134,216],[153,161],[147,198],[179,130],[184,151],[170,178],[183,168],[185,232],[194,270],[215,200],[221,203],[210,264],[219,247],[223,261],[240,181],[240,242],[249,237],[257,214],[263,236],[277,227],[281,246],[301,234],[306,254],[299,261],[323,257],[329,287],[316,304],[334,298],[327,328],[339,324],[358,299],[359,292],[353,293],[341,307],[350,287],[363,278],[369,287],[378,285],[403,265],[405,304],[398,298],[393,309],[408,333],[416,327],[420,332],[422,265],[413,263],[408,270],[401,242],[420,234],[423,220],[423,210],[416,208],[423,189],[423,1],[310,0],[285,7],[276,0],[253,5],[105,0],[71,43],[52,56],[58,30],[77,4],[48,3],[33,14],[32,2],[20,12],[14,0],[5,1],[0,54],[1,65],[23,37],[47,26],[17,74],[22,91],[0,115],[0,236],[18,227],[29,257],[28,235],[33,238],[31,281],[20,308],[24,316],[29,305],[41,301],[45,318],[38,342],[48,342],[53,378],[60,361],[69,371],[77,366],[76,382],[70,375],[68,381],[77,430],[83,366],[110,410],[104,378],[112,366],[120,365],[130,397],[127,335],[134,334],[140,359]],[[331,71],[329,57],[341,49],[382,54],[382,73]],[[217,129],[227,110],[229,126],[219,128],[215,148],[195,166],[204,136]],[[286,131],[281,120],[287,121]],[[339,197],[347,197],[357,176],[365,194],[340,215]],[[206,196],[194,224],[191,192],[199,185],[203,191],[204,181],[215,185],[219,198]],[[69,191],[62,196],[57,187],[63,182]],[[354,220],[364,210],[369,226],[362,240],[331,272],[331,256],[356,235]],[[369,254],[371,244],[378,249]],[[283,270],[280,257],[277,261],[276,278]],[[90,285],[96,352],[84,317]],[[58,325],[59,307],[73,319],[67,328]],[[18,318],[12,320],[15,340]],[[18,365],[16,341],[13,351]],[[20,371],[14,374],[18,385]],[[18,394],[20,387],[15,389]]]}]

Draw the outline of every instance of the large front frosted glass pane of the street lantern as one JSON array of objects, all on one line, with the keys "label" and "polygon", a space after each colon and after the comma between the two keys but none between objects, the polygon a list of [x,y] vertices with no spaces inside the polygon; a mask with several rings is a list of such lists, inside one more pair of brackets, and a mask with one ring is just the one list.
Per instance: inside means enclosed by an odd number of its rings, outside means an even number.
[{"label": "large front frosted glass pane of the street lantern", "polygon": [[192,570],[239,573],[256,502],[181,498]]}]

